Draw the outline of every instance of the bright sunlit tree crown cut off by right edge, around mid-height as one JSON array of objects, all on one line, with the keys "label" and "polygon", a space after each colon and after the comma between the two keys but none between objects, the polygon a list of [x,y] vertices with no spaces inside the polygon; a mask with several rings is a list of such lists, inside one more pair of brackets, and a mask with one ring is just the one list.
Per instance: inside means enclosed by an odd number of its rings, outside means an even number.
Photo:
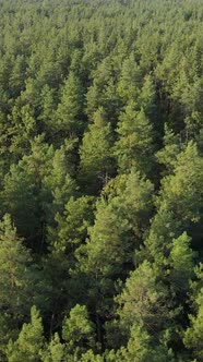
[{"label": "bright sunlit tree crown cut off by right edge, around mid-height", "polygon": [[196,222],[201,217],[202,162],[196,145],[190,142],[178,156],[175,174],[163,180],[160,201],[165,198],[182,221]]}]

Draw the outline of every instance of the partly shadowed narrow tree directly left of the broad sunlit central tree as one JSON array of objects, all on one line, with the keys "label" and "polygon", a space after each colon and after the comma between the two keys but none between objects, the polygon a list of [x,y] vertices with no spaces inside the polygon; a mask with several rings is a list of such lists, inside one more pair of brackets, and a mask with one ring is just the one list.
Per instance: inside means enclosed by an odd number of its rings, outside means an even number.
[{"label": "partly shadowed narrow tree directly left of the broad sunlit central tree", "polygon": [[70,197],[63,213],[56,215],[56,226],[48,228],[47,274],[51,276],[53,311],[59,314],[63,307],[86,302],[87,280],[81,274],[77,251],[93,222],[92,207],[92,197]]}]

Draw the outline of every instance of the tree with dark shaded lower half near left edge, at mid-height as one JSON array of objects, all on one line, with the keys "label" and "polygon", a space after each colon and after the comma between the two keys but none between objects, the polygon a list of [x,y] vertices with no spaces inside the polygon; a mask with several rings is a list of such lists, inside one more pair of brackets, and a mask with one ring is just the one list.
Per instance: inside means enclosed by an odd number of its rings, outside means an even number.
[{"label": "tree with dark shaded lower half near left edge, at mid-height", "polygon": [[11,166],[1,193],[4,210],[11,214],[19,233],[33,242],[34,249],[41,249],[45,240],[46,203],[51,193],[45,190],[44,180],[50,172],[52,155],[52,147],[37,136],[32,142],[32,153]]}]

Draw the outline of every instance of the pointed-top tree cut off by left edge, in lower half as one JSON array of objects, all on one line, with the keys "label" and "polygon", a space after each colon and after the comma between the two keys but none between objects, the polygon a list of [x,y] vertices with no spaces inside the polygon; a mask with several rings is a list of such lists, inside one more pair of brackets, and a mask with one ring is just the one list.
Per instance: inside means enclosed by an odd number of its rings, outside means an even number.
[{"label": "pointed-top tree cut off by left edge, in lower half", "polygon": [[16,318],[26,314],[28,307],[28,265],[32,257],[8,214],[0,222],[0,305],[2,311]]}]

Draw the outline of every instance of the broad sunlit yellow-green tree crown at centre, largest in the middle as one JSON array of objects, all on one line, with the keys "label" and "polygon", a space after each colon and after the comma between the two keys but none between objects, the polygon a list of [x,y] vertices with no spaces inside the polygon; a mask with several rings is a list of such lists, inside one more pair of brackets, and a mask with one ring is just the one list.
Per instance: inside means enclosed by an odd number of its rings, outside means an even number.
[{"label": "broad sunlit yellow-green tree crown at centre, largest in the middle", "polygon": [[98,276],[117,275],[124,263],[132,262],[146,227],[143,222],[152,213],[153,185],[148,180],[132,171],[114,181],[116,194],[108,192],[110,182],[104,191],[109,202],[104,197],[97,203],[95,225],[89,228],[89,239],[83,248],[87,253],[84,268]]}]

